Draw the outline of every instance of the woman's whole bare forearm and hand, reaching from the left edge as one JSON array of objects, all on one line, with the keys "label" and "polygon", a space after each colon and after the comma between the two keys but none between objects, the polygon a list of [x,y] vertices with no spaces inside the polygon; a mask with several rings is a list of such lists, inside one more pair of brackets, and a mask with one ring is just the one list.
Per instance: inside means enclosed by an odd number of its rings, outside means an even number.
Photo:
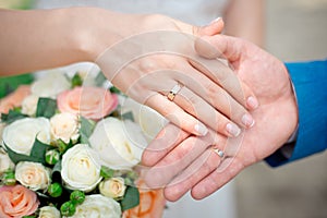
[{"label": "woman's whole bare forearm and hand, reaching from the left edge", "polygon": [[[97,8],[0,10],[0,20],[1,75],[93,61],[113,85],[186,132],[206,135],[210,128],[237,136],[240,128],[253,125],[247,110],[257,104],[249,104],[250,97],[255,98],[250,88],[228,69],[220,71],[222,64],[217,61],[211,71],[218,80],[210,80],[209,71],[194,64],[204,61],[193,49],[195,38],[220,33],[221,20],[197,27],[158,14]],[[226,80],[226,75],[232,76]],[[178,83],[183,86],[181,95],[170,101],[166,96]],[[230,88],[235,86],[242,92]],[[244,116],[250,120],[244,122]]]}]

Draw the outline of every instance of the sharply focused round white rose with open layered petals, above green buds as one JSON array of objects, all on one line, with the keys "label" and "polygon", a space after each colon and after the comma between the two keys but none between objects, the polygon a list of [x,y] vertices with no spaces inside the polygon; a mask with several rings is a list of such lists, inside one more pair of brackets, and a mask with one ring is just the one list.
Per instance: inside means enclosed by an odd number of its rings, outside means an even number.
[{"label": "sharply focused round white rose with open layered petals, above green buds", "polygon": [[72,190],[89,192],[101,181],[99,156],[88,145],[78,144],[62,156],[61,177]]}]

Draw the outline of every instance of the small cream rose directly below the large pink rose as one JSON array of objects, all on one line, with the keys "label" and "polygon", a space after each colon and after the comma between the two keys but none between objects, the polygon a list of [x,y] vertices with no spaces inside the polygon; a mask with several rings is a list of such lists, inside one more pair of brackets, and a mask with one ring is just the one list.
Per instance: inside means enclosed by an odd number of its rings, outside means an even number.
[{"label": "small cream rose directly below the large pink rose", "polygon": [[78,119],[77,116],[63,112],[53,116],[50,119],[51,137],[53,141],[62,140],[69,143],[70,140],[76,142],[78,134]]}]

